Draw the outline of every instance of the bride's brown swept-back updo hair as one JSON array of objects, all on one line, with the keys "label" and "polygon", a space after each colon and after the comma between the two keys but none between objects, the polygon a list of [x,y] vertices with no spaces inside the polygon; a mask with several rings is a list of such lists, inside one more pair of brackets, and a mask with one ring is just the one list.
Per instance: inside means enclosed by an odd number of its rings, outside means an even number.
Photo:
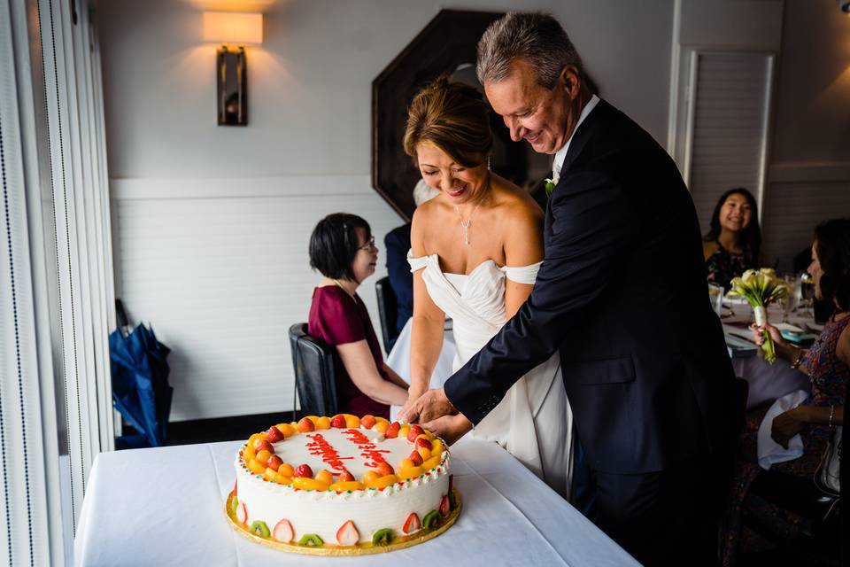
[{"label": "bride's brown swept-back updo hair", "polygon": [[429,83],[407,111],[404,147],[413,166],[419,144],[436,146],[462,167],[480,166],[493,147],[488,113],[476,89],[445,77]]}]

